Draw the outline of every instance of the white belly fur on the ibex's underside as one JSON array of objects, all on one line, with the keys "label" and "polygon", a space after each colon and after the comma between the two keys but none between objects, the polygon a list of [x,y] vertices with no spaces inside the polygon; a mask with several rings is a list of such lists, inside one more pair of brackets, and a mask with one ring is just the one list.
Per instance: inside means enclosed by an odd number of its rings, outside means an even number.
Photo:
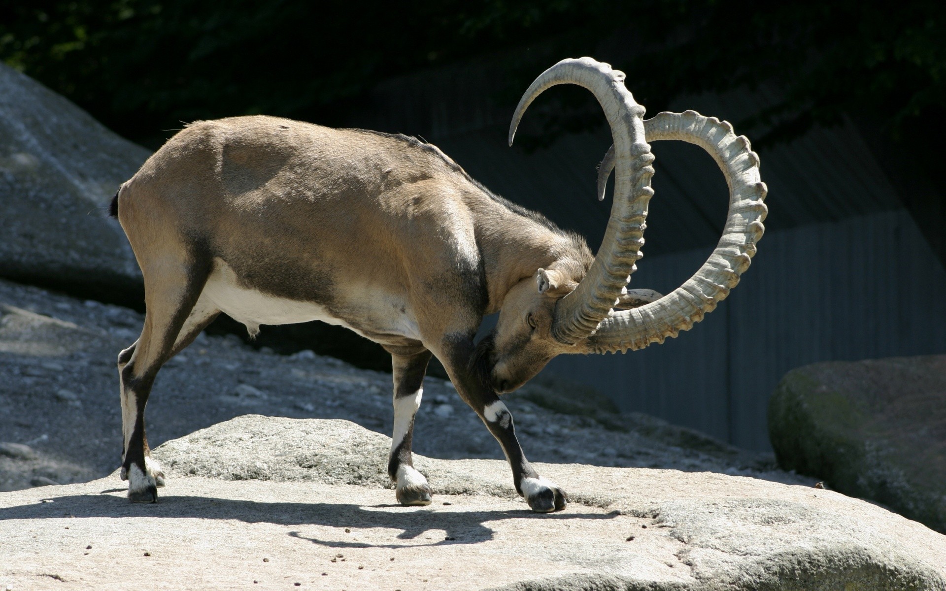
[{"label": "white belly fur on the ibex's underside", "polygon": [[[297,322],[322,321],[350,328],[361,336],[358,329],[342,319],[332,316],[323,305],[300,302],[272,296],[256,289],[239,285],[236,272],[220,259],[214,261],[214,270],[207,278],[201,292],[201,299],[207,298],[221,312],[236,322],[246,325],[250,335],[259,333],[260,324],[295,324]],[[386,306],[394,309],[394,306]],[[393,334],[409,339],[420,339],[417,322],[407,312],[392,318],[366,318],[365,325],[370,325],[373,332]],[[360,319],[359,319],[360,320]],[[360,323],[360,322],[359,322]]]}]

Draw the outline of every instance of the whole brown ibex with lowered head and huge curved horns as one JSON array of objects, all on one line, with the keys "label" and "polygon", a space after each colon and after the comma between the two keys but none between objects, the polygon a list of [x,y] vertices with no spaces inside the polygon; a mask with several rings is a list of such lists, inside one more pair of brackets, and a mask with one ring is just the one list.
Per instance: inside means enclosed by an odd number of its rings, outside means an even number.
[{"label": "whole brown ibex with lowered head and huge curved horns", "polygon": [[[512,144],[526,108],[555,84],[597,97],[614,139],[600,194],[615,169],[597,255],[579,235],[494,195],[411,137],[245,116],[197,122],[168,140],[112,207],[144,274],[147,304],[140,338],[118,356],[131,501],[155,502],[164,483],[145,437],[155,374],[225,312],[251,334],[260,324],[341,324],[391,353],[388,473],[400,503],[430,502],[411,443],[434,355],[499,441],[519,495],[535,512],[564,508],[566,493],[526,461],[498,393],[516,390],[553,356],[623,353],[691,328],[739,282],[766,213],[759,159],[745,137],[694,112],[644,121],[623,78],[589,58],[560,61],[519,101],[509,132]],[[706,148],[725,173],[725,231],[669,295],[628,292],[653,195],[645,140],[670,139]],[[494,312],[495,329],[474,344],[483,316]]]}]

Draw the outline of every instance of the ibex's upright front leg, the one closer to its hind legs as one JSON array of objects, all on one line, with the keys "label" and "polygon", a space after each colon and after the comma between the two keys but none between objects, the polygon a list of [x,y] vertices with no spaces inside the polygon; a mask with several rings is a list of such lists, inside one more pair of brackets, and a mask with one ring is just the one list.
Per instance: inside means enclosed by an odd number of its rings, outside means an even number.
[{"label": "ibex's upright front leg, the one closer to its hind legs", "polygon": [[430,487],[427,478],[413,467],[411,443],[413,421],[423,396],[424,374],[430,352],[421,348],[419,353],[391,354],[394,370],[394,432],[391,436],[391,455],[388,457],[388,475],[397,483],[397,502],[402,505],[429,505]]}]

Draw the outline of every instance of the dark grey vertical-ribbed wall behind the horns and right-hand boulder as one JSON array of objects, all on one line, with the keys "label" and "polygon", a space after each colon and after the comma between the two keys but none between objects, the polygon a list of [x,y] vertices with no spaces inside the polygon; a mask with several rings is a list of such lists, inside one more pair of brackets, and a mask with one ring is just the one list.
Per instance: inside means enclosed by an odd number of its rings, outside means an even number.
[{"label": "dark grey vertical-ribbed wall behind the horns and right-hand boulder", "polygon": [[[632,287],[666,293],[710,249],[645,257]],[[617,356],[559,356],[546,370],[648,412],[768,449],[768,397],[823,360],[946,352],[946,271],[905,211],[771,232],[730,297],[689,333]]]}]

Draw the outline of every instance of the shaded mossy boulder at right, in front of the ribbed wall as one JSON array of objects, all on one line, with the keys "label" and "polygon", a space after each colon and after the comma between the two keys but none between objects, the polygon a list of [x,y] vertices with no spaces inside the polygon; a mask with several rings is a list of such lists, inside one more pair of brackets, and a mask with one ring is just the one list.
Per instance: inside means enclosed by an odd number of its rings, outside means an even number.
[{"label": "shaded mossy boulder at right, in front of the ribbed wall", "polygon": [[946,356],[793,370],[768,425],[785,470],[946,532]]}]

